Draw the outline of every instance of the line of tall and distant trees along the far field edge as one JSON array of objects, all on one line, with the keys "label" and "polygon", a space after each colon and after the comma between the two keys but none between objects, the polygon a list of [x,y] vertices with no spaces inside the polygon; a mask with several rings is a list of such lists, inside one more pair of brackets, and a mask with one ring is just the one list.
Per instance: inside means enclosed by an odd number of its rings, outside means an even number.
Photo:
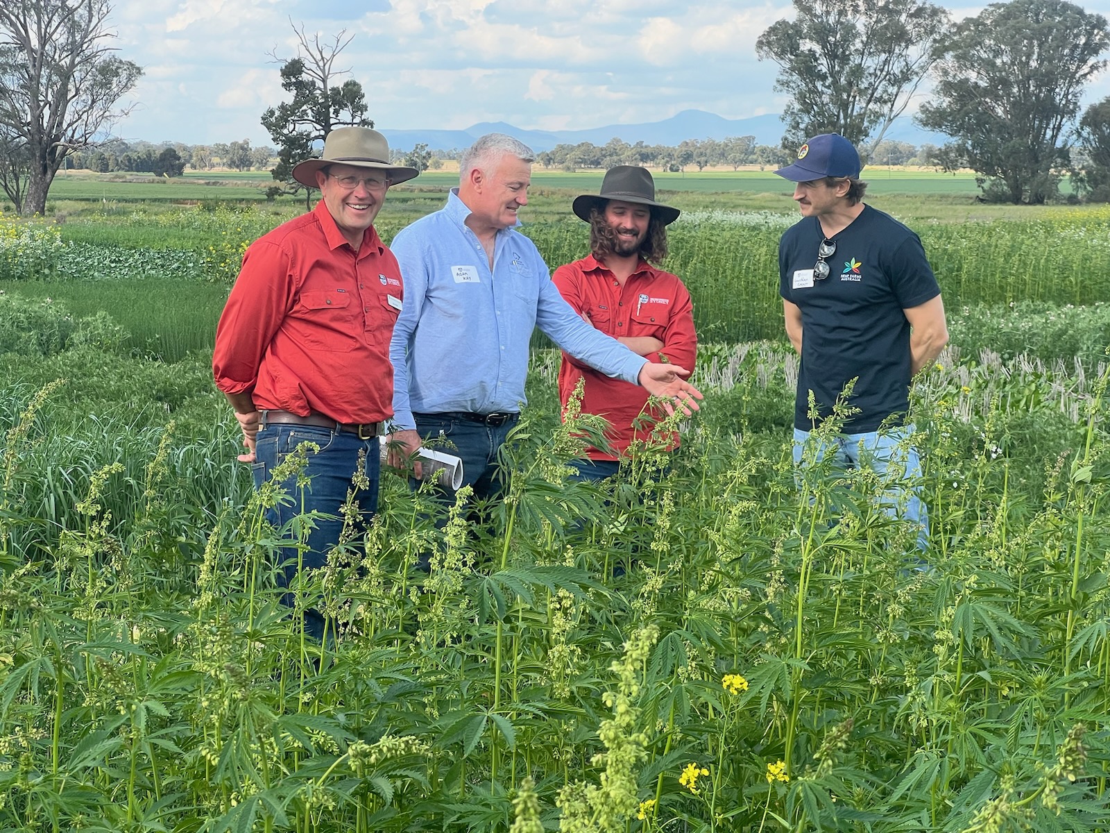
[{"label": "line of tall and distant trees along the far field edge", "polygon": [[[142,155],[147,149],[130,158],[103,149],[129,112],[120,100],[142,76],[110,46],[110,10],[109,0],[0,2],[0,188],[23,213],[44,210],[54,175],[77,154],[91,152],[94,170],[149,164],[173,175],[184,164],[206,167],[195,148],[188,159],[176,145],[150,158]],[[296,54],[271,56],[290,100],[261,119],[278,160],[272,197],[296,192],[293,164],[317,152],[332,129],[374,126],[361,83],[335,64],[353,36],[341,31],[329,40],[303,26],[294,31]],[[775,90],[787,98],[778,148],[756,145],[751,137],[676,148],[613,140],[602,148],[559,145],[538,161],[548,168],[769,165],[807,137],[838,132],[875,163],[897,152],[886,133],[929,81],[929,98],[914,119],[950,141],[918,149],[919,161],[973,170],[987,200],[1052,201],[1066,177],[1086,198],[1106,200],[1110,98],[1082,114],[1080,102],[1106,69],[1108,46],[1106,18],[1068,0],[996,2],[959,22],[928,0],[794,0],[793,19],[776,21],[756,41],[758,58],[778,64]],[[262,149],[254,150],[231,142],[211,145],[208,157],[245,170],[261,157]],[[426,168],[436,155],[417,145],[407,158]]]}]

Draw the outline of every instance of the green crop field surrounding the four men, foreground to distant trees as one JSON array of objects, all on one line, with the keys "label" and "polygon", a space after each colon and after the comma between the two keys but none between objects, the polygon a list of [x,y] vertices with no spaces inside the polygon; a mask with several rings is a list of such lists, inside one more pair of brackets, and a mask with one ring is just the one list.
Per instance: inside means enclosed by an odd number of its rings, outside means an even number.
[{"label": "green crop field surrounding the four men, foreground to distant trees", "polygon": [[[543,175],[554,267],[599,177]],[[443,199],[402,193],[386,240]],[[383,473],[295,588],[324,645],[272,563],[311,519],[264,524],[297,495],[251,488],[210,367],[244,247],[296,207],[0,215],[0,831],[1110,831],[1110,210],[876,189],[951,331],[911,391],[926,565],[877,478],[793,471],[788,198],[675,194],[706,399],[669,468],[569,481],[537,341],[507,499]]]}]

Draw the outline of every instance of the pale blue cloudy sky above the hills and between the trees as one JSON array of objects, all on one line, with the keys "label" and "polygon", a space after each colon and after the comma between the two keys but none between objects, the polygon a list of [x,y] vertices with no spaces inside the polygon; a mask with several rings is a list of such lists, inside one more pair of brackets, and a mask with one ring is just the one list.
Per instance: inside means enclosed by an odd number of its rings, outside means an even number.
[{"label": "pale blue cloudy sky above the hills and between the trees", "polygon": [[[1110,0],[1078,2],[1110,17]],[[953,16],[982,3],[949,0]],[[330,43],[379,128],[505,121],[579,129],[700,109],[780,112],[777,67],[755,41],[784,0],[114,0],[122,58],[143,67],[117,126],[127,140],[270,144],[265,108],[287,96],[272,54],[296,54],[291,21]],[[1088,99],[1110,94],[1103,73]]]}]

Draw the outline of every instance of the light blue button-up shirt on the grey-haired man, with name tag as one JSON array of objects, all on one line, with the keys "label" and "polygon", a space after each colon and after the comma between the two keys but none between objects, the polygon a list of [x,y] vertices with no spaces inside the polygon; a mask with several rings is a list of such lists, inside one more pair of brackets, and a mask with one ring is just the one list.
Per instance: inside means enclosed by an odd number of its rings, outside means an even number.
[{"label": "light blue button-up shirt on the grey-haired man, with name tag", "polygon": [[402,229],[390,244],[405,290],[390,343],[396,428],[415,428],[413,411],[519,410],[536,327],[576,359],[635,383],[646,360],[571,309],[535,243],[502,229],[491,271],[485,249],[465,225],[470,214],[452,189],[443,209]]}]

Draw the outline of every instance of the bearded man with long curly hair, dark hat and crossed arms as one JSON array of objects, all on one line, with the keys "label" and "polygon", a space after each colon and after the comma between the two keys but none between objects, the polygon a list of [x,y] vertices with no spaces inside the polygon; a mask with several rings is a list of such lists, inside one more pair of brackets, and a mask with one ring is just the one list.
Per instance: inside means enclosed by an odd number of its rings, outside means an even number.
[{"label": "bearded man with long curly hair, dark hat and crossed arms", "polygon": [[[689,292],[670,272],[652,265],[667,255],[666,227],[678,209],[655,201],[655,182],[644,168],[617,165],[606,172],[599,194],[582,194],[574,213],[589,223],[591,254],[559,267],[552,280],[563,298],[588,323],[652,362],[693,370],[697,353]],[[558,374],[564,412],[578,380],[584,381],[582,412],[604,416],[610,448],[591,448],[578,461],[578,478],[602,480],[617,472],[634,441],[645,441],[650,424],[666,415],[648,408],[647,391],[610,379],[566,352]],[[642,428],[640,414],[647,419]],[[673,433],[669,448],[678,445]]]}]

